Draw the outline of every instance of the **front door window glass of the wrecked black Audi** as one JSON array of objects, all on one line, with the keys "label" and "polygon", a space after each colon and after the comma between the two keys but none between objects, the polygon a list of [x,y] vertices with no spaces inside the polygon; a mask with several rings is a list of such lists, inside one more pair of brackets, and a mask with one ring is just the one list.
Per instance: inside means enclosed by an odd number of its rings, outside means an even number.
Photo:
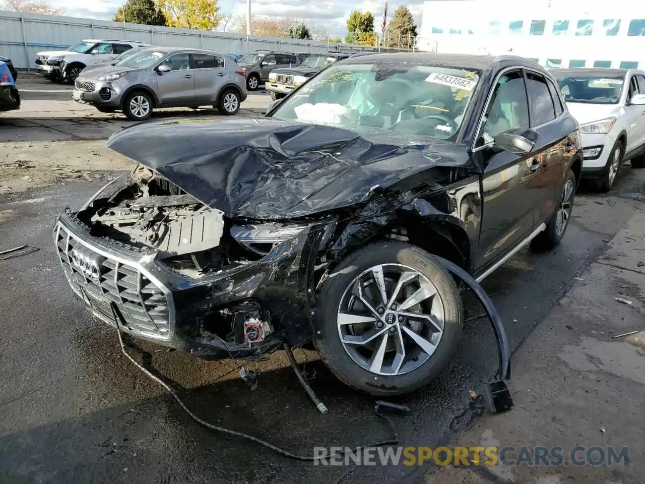
[{"label": "front door window glass of the wrecked black Audi", "polygon": [[526,87],[520,70],[504,74],[499,79],[485,119],[484,143],[490,143],[506,130],[529,127]]}]

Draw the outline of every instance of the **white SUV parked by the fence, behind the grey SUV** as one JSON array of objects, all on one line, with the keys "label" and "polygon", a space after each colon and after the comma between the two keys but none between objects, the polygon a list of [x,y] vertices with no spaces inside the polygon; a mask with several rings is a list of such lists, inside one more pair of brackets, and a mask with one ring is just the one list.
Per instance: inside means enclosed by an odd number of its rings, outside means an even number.
[{"label": "white SUV parked by the fence, behind the grey SUV", "polygon": [[38,52],[36,70],[52,81],[63,80],[74,83],[85,66],[113,59],[131,48],[148,46],[142,42],[85,39],[65,50]]}]

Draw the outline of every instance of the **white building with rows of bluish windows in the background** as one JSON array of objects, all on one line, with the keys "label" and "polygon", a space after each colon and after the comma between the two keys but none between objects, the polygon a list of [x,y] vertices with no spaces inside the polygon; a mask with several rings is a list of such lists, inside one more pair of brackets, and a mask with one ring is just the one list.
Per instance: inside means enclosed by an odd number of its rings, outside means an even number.
[{"label": "white building with rows of bluish windows in the background", "polygon": [[513,54],[548,67],[645,68],[645,2],[426,0],[419,50]]}]

